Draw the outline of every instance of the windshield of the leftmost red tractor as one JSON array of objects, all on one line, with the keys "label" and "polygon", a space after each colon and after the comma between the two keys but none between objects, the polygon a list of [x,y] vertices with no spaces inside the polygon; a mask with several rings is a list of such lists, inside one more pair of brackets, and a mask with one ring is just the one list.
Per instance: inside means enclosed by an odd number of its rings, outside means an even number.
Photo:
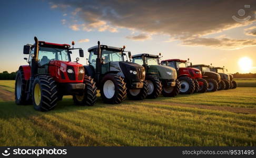
[{"label": "windshield of the leftmost red tractor", "polygon": [[71,61],[67,50],[52,47],[40,47],[38,52],[38,63],[42,66],[48,64],[51,60]]}]

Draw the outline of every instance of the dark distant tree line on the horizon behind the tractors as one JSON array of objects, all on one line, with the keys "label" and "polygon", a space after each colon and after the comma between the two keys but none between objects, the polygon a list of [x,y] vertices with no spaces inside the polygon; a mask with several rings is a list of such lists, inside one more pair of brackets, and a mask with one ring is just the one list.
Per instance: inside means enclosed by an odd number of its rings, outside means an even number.
[{"label": "dark distant tree line on the horizon behind the tractors", "polygon": [[[8,73],[4,71],[0,73],[0,80],[15,80],[17,72]],[[235,73],[233,74],[234,78],[256,78],[256,73],[247,73],[247,74],[240,74]]]}]

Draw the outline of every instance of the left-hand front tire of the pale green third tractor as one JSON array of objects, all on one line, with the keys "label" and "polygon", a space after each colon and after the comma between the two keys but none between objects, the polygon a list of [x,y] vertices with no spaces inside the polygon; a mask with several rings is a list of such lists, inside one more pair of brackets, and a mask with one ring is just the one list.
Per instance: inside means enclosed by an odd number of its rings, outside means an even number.
[{"label": "left-hand front tire of the pale green third tractor", "polygon": [[147,98],[156,98],[162,93],[162,84],[158,77],[146,76]]}]

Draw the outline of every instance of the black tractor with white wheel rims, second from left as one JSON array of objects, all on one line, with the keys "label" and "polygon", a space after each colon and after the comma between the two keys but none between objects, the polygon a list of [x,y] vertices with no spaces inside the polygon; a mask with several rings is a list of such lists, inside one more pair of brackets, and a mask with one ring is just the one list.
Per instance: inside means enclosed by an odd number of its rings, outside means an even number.
[{"label": "black tractor with white wheel rims, second from left", "polygon": [[127,96],[132,100],[143,100],[147,96],[145,69],[128,62],[124,48],[101,45],[100,41],[88,48],[89,64],[84,69],[96,81],[104,103],[119,104]]}]

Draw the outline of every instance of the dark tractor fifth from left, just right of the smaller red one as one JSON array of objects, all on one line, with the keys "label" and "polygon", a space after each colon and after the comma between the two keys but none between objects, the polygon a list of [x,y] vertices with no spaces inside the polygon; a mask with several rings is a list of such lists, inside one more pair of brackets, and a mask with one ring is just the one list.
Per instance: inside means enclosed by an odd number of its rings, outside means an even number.
[{"label": "dark tractor fifth from left, just right of the smaller red one", "polygon": [[221,82],[220,75],[211,72],[209,65],[190,65],[188,67],[198,68],[202,72],[202,77],[208,82],[208,92],[215,92],[218,90],[219,83]]}]

